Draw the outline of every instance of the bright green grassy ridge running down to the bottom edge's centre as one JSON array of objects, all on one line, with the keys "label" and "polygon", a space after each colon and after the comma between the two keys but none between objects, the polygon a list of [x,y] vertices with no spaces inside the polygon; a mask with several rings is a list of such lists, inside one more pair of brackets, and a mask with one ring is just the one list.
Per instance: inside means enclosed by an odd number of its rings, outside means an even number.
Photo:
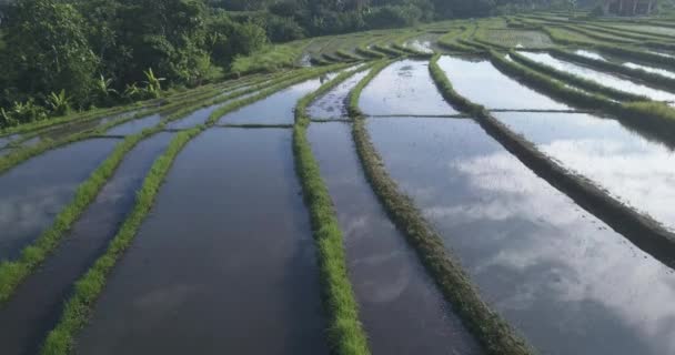
[{"label": "bright green grassy ridge running down to the bottom edge's centre", "polygon": [[[369,67],[356,71],[366,70]],[[318,91],[304,97],[295,108],[293,153],[295,172],[302,184],[305,204],[310,211],[312,231],[318,245],[322,283],[322,300],[328,314],[329,345],[334,354],[367,355],[367,336],[359,320],[359,305],[347,275],[343,234],[338,223],[333,201],[321,178],[319,163],[306,138],[310,118],[308,105],[352,77],[356,71],[340,74]]]}]

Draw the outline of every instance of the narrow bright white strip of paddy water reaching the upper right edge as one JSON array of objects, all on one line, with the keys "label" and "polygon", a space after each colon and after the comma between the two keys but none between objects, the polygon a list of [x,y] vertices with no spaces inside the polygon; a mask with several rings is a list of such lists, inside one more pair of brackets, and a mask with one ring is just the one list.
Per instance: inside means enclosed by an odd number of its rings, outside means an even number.
[{"label": "narrow bright white strip of paddy water reaching the upper right edge", "polygon": [[652,89],[645,87],[643,84],[635,83],[633,81],[618,78],[613,74],[607,74],[601,71],[596,71],[593,69],[588,69],[586,67],[582,67],[578,64],[574,64],[567,61],[560,60],[557,58],[552,57],[548,53],[532,53],[532,52],[521,52],[522,55],[527,57],[532,60],[535,60],[540,63],[544,63],[546,65],[553,67],[560,71],[568,72],[575,75],[580,75],[584,79],[588,79],[595,81],[600,84],[611,87],[617,90],[622,90],[625,92],[645,95],[652,100],[656,101],[675,101],[675,94],[666,91]]}]

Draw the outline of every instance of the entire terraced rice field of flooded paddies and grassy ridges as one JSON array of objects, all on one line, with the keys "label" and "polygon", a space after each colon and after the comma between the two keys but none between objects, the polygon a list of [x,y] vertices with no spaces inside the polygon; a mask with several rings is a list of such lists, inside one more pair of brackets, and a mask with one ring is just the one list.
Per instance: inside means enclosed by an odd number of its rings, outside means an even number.
[{"label": "entire terraced rice field of flooded paddies and grassy ridges", "polygon": [[2,132],[1,354],[675,354],[672,43],[597,26],[308,39]]}]

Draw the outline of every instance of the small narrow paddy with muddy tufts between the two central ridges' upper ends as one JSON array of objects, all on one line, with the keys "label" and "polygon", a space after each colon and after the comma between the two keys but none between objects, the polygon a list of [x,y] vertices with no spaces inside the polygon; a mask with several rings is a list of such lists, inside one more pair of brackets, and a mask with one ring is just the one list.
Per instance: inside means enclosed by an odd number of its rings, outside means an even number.
[{"label": "small narrow paddy with muddy tufts between the two central ridges' upper ends", "polygon": [[367,75],[369,70],[355,73],[335,89],[314,101],[309,108],[310,118],[316,120],[336,120],[347,116],[345,100],[350,91]]}]

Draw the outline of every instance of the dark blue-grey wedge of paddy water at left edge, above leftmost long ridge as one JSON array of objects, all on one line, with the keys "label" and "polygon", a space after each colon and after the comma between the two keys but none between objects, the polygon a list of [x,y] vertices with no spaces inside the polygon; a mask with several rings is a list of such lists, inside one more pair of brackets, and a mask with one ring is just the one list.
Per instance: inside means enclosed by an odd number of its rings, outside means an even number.
[{"label": "dark blue-grey wedge of paddy water at left edge, above leftmost long ridge", "polygon": [[77,142],[28,160],[0,175],[0,260],[16,258],[112,151],[118,140]]}]

